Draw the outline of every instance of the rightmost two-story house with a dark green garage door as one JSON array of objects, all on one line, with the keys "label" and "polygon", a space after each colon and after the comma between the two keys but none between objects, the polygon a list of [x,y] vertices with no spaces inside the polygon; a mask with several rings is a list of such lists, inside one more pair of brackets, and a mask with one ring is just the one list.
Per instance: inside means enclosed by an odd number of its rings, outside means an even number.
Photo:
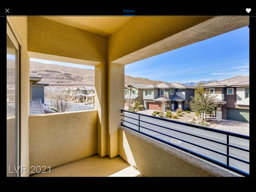
[{"label": "rightmost two-story house with a dark green garage door", "polygon": [[249,77],[236,76],[199,87],[208,88],[211,94],[217,95],[217,113],[222,119],[249,122]]}]

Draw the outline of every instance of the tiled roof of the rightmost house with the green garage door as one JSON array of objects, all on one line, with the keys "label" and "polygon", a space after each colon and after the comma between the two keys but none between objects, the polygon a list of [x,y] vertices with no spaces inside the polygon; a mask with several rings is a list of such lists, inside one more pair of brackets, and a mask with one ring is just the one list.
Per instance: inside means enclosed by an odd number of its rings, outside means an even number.
[{"label": "tiled roof of the rightmost house with the green garage door", "polygon": [[229,79],[224,79],[222,81],[213,81],[200,85],[199,87],[236,87],[241,85],[249,85],[249,77],[247,76],[236,76]]}]

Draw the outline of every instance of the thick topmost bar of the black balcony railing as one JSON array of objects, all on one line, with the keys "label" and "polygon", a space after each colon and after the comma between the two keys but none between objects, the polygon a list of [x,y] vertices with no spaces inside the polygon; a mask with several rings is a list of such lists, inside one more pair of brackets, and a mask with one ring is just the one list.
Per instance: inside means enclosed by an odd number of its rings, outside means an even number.
[{"label": "thick topmost bar of the black balcony railing", "polygon": [[171,120],[171,119],[160,118],[160,117],[156,117],[156,116],[150,116],[150,115],[147,115],[147,114],[135,113],[135,112],[126,111],[126,110],[121,109],[121,113],[122,112],[132,113],[132,114],[141,115],[141,116],[145,116],[145,117],[149,117],[149,118],[154,118],[154,119],[158,119],[158,120],[162,120],[162,121],[167,121],[167,122],[171,122],[171,123],[175,123],[175,124],[180,124],[180,125],[184,125],[184,126],[194,127],[194,128],[197,128],[197,129],[204,129],[204,130],[212,131],[212,132],[215,132],[215,133],[221,133],[221,134],[224,134],[224,135],[230,135],[230,136],[233,136],[233,137],[244,138],[244,139],[250,140],[249,136],[241,135],[241,134],[238,134],[238,133],[232,133],[232,132],[228,132],[228,131],[221,131],[221,130],[218,130],[218,129],[212,129],[212,128],[205,127],[205,126],[200,126],[200,125],[189,124],[189,123],[185,123],[185,122],[174,121],[174,120]]}]

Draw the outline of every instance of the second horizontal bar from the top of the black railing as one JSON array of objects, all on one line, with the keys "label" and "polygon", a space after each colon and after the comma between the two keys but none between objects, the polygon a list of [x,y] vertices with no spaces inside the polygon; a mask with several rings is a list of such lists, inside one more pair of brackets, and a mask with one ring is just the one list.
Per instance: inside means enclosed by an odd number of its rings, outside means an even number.
[{"label": "second horizontal bar from the top of the black railing", "polygon": [[[124,115],[121,115],[121,116],[124,116]],[[124,117],[128,117],[128,116],[124,116]],[[128,118],[132,118],[132,117],[128,117]],[[134,120],[137,120],[135,118],[132,118]],[[138,121],[138,120],[137,120]],[[172,131],[176,131],[176,132],[179,132],[179,133],[183,133],[183,134],[186,134],[186,135],[190,135],[190,136],[193,136],[193,137],[197,137],[197,138],[201,138],[201,139],[204,139],[204,140],[208,140],[208,141],[211,141],[211,142],[215,142],[215,143],[218,143],[218,144],[221,144],[221,145],[224,145],[224,146],[229,146],[229,147],[232,147],[232,148],[236,148],[238,150],[242,150],[242,151],[246,151],[246,152],[250,152],[249,150],[247,149],[244,149],[244,148],[240,148],[240,147],[237,147],[237,146],[234,146],[234,145],[230,145],[230,144],[226,144],[226,143],[223,143],[223,142],[219,142],[219,141],[215,141],[215,140],[212,140],[212,139],[209,139],[209,138],[204,138],[204,137],[201,137],[201,136],[198,136],[198,135],[193,135],[191,133],[186,133],[186,132],[183,132],[183,131],[179,131],[179,130],[176,130],[176,129],[172,129],[172,128],[169,128],[169,127],[164,127],[164,126],[160,126],[160,125],[157,125],[157,124],[153,124],[153,123],[150,123],[150,122],[146,122],[146,121],[143,121],[143,120],[139,120],[141,122],[144,122],[144,123],[147,123],[147,124],[151,124],[151,125],[154,125],[154,126],[158,126],[158,127],[162,127],[164,129],[169,129],[169,130],[172,130]],[[130,122],[128,122],[130,123]],[[135,125],[135,124],[134,124]],[[138,126],[138,125],[136,125]]]}]

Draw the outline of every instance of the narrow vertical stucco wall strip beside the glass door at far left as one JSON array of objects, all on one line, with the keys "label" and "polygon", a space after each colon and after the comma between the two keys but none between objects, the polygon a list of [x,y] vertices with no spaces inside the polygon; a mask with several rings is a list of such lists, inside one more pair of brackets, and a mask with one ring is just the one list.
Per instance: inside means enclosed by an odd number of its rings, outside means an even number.
[{"label": "narrow vertical stucco wall strip beside the glass door at far left", "polygon": [[[30,100],[30,59],[27,52],[28,17],[7,17],[21,45],[21,165],[29,167],[28,116]],[[23,172],[22,176],[28,176]]]}]

